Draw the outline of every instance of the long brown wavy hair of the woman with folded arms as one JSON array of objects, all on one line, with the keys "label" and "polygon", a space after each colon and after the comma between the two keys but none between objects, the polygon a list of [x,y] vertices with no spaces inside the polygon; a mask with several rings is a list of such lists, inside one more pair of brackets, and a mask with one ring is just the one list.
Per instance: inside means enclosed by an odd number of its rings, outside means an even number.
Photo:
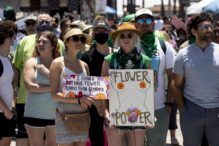
[{"label": "long brown wavy hair of the woman with folded arms", "polygon": [[[36,42],[38,41],[40,36],[46,37],[48,40],[50,40],[52,46],[54,46],[54,49],[52,50],[53,58],[57,58],[57,57],[61,56],[60,45],[58,44],[58,39],[57,39],[56,35],[53,32],[44,31],[44,32],[41,32],[41,33],[37,34]],[[36,56],[39,56],[39,55],[40,55],[40,53],[38,52],[37,45],[35,45],[35,49],[33,51],[33,57],[36,57]]]}]

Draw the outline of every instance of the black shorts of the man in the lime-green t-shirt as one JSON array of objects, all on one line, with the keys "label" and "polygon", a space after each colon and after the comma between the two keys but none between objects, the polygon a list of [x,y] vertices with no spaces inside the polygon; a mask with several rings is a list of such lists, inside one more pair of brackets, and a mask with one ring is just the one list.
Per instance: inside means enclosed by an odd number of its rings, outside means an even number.
[{"label": "black shorts of the man in the lime-green t-shirt", "polygon": [[28,138],[24,127],[24,104],[16,104],[17,111],[17,133],[16,138]]}]

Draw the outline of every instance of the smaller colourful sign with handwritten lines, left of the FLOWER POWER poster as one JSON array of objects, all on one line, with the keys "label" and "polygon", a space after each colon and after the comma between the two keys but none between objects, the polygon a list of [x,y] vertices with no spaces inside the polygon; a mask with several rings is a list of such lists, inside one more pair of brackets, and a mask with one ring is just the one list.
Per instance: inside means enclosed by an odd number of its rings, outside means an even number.
[{"label": "smaller colourful sign with handwritten lines, left of the FLOWER POWER poster", "polygon": [[83,95],[94,99],[107,99],[109,93],[109,78],[71,75],[64,77],[62,96],[79,98]]}]

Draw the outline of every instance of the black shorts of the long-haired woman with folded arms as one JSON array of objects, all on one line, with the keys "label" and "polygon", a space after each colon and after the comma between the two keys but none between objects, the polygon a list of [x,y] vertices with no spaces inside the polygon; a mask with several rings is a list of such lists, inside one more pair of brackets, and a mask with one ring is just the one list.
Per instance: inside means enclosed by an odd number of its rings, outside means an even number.
[{"label": "black shorts of the long-haired woman with folded arms", "polygon": [[28,125],[31,127],[44,128],[48,126],[55,126],[55,119],[47,120],[47,119],[24,117],[24,123],[25,125]]}]

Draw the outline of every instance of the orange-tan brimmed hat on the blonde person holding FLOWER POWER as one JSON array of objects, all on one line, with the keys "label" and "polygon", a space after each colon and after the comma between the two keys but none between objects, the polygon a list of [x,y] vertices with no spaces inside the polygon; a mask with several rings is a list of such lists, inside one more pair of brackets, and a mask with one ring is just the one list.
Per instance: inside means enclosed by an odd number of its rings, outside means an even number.
[{"label": "orange-tan brimmed hat on the blonde person holding FLOWER POWER", "polygon": [[115,40],[118,34],[120,34],[123,31],[132,31],[136,33],[137,35],[141,36],[143,33],[135,28],[135,25],[131,22],[124,22],[122,23],[116,31],[114,31],[111,35],[112,39]]}]

